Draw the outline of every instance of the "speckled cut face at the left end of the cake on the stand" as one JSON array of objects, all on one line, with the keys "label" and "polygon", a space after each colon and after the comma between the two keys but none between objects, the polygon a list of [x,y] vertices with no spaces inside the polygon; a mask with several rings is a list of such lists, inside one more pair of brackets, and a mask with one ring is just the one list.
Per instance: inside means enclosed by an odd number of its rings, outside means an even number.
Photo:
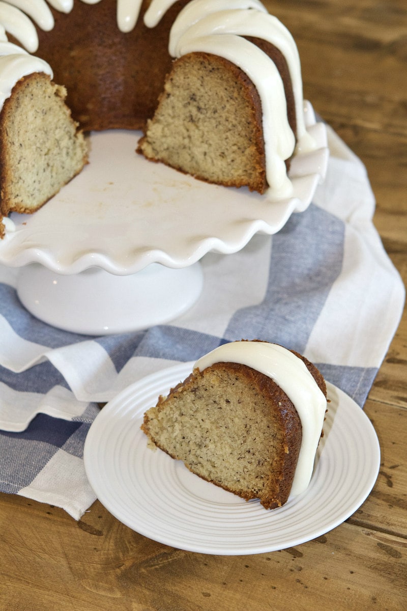
[{"label": "speckled cut face at the left end of the cake on the stand", "polygon": [[66,106],[65,87],[31,73],[0,113],[0,211],[31,213],[87,163],[87,144]]}]

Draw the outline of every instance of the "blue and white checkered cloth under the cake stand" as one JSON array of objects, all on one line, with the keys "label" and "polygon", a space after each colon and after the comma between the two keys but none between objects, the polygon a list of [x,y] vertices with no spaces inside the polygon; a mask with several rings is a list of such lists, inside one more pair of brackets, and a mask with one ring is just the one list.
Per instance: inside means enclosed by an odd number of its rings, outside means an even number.
[{"label": "blue and white checkered cloth under the cake stand", "polygon": [[314,203],[275,236],[207,254],[203,294],[171,324],[105,337],[60,331],[24,310],[18,271],[0,267],[0,491],[79,519],[95,500],[82,455],[97,403],[223,340],[295,349],[363,406],[405,291],[372,224],[366,170],[328,136],[328,174]]}]

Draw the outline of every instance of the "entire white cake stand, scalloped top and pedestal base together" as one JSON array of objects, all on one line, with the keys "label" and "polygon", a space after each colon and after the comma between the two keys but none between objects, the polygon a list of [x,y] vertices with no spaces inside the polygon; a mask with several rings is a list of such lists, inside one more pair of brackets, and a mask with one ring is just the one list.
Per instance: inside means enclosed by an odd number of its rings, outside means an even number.
[{"label": "entire white cake stand, scalloped top and pedestal base together", "polygon": [[203,286],[200,259],[278,232],[306,210],[328,161],[325,125],[304,105],[317,149],[292,161],[290,199],[207,185],[135,153],[137,132],[90,134],[90,163],[35,214],[6,219],[0,263],[40,320],[90,335],[166,323]]}]

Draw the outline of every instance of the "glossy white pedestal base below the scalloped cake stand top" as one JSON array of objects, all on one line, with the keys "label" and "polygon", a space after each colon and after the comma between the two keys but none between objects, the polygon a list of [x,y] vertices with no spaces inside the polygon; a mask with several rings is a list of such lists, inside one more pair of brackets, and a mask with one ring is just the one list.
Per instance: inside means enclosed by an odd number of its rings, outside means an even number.
[{"label": "glossy white pedestal base below the scalloped cake stand top", "polygon": [[196,302],[202,286],[200,263],[181,269],[151,263],[129,276],[101,268],[66,276],[33,263],[21,268],[17,293],[24,307],[45,323],[108,335],[173,320]]}]

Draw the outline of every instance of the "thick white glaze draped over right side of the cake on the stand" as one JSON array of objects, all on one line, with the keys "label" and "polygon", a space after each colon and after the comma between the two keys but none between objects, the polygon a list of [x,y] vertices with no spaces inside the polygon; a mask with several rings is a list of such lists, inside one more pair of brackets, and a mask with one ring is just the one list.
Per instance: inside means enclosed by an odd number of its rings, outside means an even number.
[{"label": "thick white glaze draped over right side of the cake on the stand", "polygon": [[[145,13],[145,24],[154,27],[174,2],[153,0]],[[286,59],[294,91],[297,145],[287,119],[281,76],[267,54],[245,36],[267,40]],[[168,49],[173,57],[193,51],[212,53],[228,59],[248,75],[261,98],[268,195],[289,197],[292,183],[284,161],[295,148],[302,152],[314,149],[315,141],[304,124],[300,57],[287,28],[257,0],[192,0],[171,27]]]}]

